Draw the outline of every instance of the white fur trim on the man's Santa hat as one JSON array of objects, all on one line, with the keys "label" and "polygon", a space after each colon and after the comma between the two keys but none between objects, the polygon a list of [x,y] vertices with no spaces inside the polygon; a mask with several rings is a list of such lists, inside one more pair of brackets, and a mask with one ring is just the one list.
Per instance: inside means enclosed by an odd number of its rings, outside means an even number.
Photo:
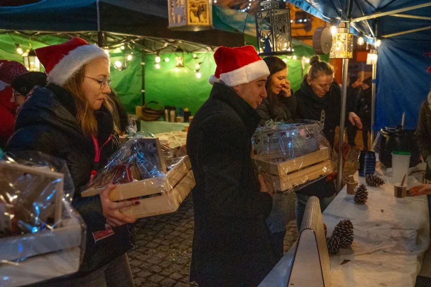
[{"label": "white fur trim on the man's Santa hat", "polygon": [[259,60],[241,67],[237,70],[220,74],[222,80],[229,87],[235,87],[242,84],[250,83],[263,76],[269,76],[270,72],[267,64],[263,60]]}]

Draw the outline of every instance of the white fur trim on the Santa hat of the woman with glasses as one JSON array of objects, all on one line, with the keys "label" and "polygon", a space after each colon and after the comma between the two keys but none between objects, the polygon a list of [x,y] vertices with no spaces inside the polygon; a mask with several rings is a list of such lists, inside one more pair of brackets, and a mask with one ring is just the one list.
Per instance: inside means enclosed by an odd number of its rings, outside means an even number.
[{"label": "white fur trim on the Santa hat of the woman with glasses", "polygon": [[109,63],[109,56],[105,50],[96,45],[83,45],[70,51],[60,62],[54,66],[48,74],[48,82],[63,86],[68,79],[75,75],[85,64],[97,58],[106,58]]}]

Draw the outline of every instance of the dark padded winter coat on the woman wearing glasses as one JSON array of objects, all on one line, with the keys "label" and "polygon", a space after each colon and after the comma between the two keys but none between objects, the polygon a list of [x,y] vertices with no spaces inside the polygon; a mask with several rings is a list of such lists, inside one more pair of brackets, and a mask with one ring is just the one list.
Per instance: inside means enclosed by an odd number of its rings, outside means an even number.
[{"label": "dark padded winter coat on the woman wearing glasses", "polygon": [[[40,151],[64,159],[75,184],[72,205],[87,224],[87,242],[84,261],[78,273],[70,278],[84,276],[109,263],[129,250],[132,245],[127,224],[113,227],[114,234],[95,242],[92,233],[105,230],[100,196],[81,197],[89,182],[95,156],[93,141],[84,136],[76,122],[73,96],[65,89],[49,84],[36,87],[21,107],[15,122],[15,133],[8,142],[7,151]],[[113,132],[111,113],[102,106],[95,111],[98,123],[98,142],[102,146]],[[101,148],[99,168],[104,167],[118,144],[109,141]]]}]

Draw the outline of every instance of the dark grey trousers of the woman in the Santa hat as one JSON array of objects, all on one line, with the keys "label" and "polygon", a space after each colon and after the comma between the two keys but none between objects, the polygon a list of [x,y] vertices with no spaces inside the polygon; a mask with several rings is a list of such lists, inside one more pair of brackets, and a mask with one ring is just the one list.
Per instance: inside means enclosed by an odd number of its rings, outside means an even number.
[{"label": "dark grey trousers of the woman in the Santa hat", "polygon": [[[109,250],[106,250],[109,252]],[[127,253],[117,257],[102,268],[85,277],[47,284],[36,284],[33,287],[134,287]]]}]

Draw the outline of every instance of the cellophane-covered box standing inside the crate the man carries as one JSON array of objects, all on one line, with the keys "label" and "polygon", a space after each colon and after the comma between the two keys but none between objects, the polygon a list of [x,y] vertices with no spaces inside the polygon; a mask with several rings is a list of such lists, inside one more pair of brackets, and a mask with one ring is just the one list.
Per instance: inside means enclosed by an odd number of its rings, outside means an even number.
[{"label": "cellophane-covered box standing inside the crate the man carries", "polygon": [[278,125],[274,129],[258,128],[252,136],[254,155],[294,158],[319,149],[321,125],[301,122]]}]

